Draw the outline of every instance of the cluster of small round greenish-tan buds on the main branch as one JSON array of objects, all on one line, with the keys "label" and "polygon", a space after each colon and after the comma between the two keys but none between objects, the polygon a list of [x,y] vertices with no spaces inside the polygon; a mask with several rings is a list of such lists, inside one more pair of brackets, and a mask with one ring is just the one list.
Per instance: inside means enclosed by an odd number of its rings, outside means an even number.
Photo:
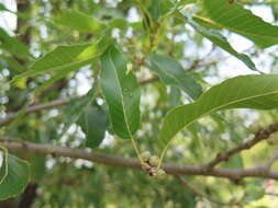
[{"label": "cluster of small round greenish-tan buds on the main branch", "polygon": [[142,160],[142,169],[146,171],[151,176],[154,177],[163,177],[166,172],[163,169],[157,169],[159,164],[159,158],[157,155],[152,155],[151,152],[145,151],[141,154]]}]

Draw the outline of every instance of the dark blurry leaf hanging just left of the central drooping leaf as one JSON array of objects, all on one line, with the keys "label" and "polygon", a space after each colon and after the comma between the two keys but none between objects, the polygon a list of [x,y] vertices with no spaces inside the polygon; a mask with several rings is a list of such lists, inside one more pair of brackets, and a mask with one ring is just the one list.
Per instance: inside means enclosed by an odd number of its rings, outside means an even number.
[{"label": "dark blurry leaf hanging just left of the central drooping leaf", "polygon": [[87,107],[79,122],[86,134],[86,147],[96,148],[104,139],[108,119],[104,111],[98,107]]}]

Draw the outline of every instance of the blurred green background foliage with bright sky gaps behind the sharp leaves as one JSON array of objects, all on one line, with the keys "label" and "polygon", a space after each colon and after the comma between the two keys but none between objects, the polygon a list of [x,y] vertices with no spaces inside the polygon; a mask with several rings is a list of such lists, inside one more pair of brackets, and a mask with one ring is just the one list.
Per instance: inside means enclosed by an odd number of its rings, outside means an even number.
[{"label": "blurred green background foliage with bright sky gaps behind the sharp leaves", "polygon": [[[129,140],[113,136],[107,120],[107,105],[98,94],[87,106],[80,119],[71,124],[66,132],[64,125],[70,108],[80,105],[76,97],[85,95],[99,74],[99,61],[66,72],[49,72],[7,84],[15,74],[23,72],[36,59],[58,45],[94,43],[101,36],[113,37],[132,63],[141,82],[152,79],[146,57],[153,50],[168,55],[182,63],[198,82],[208,89],[220,81],[237,74],[254,73],[235,58],[185,25],[177,15],[167,15],[170,0],[2,0],[0,4],[0,117],[23,111],[31,104],[53,100],[73,99],[66,106],[22,115],[10,125],[1,127],[3,136],[21,138],[37,143],[54,143],[70,148],[91,148],[103,153],[135,157]],[[180,1],[189,3],[192,1]],[[226,1],[223,1],[226,3]],[[242,0],[247,9],[278,22],[277,1]],[[227,4],[229,7],[229,4]],[[267,14],[266,14],[267,12]],[[8,16],[8,18],[7,18]],[[15,18],[16,16],[16,18]],[[265,72],[277,71],[277,47],[263,50],[238,35],[224,31],[231,44],[247,51]],[[248,47],[243,47],[243,46]],[[70,72],[71,71],[71,72]],[[43,85],[45,82],[48,84]],[[34,89],[40,93],[34,93]],[[154,79],[141,88],[142,123],[136,134],[140,149],[158,152],[156,140],[162,118],[169,108],[190,102],[190,97],[176,88],[166,86]],[[89,115],[89,116],[88,116]],[[103,118],[103,120],[100,118]],[[88,119],[89,132],[82,120]],[[253,122],[266,126],[278,120],[277,111],[255,112],[247,109],[226,111],[207,116],[178,135],[167,153],[167,162],[177,164],[201,164],[210,161],[221,150],[227,150],[251,138],[247,127]],[[86,132],[87,131],[87,132]],[[99,142],[88,145],[86,135],[92,134]],[[100,143],[101,142],[101,143]],[[262,142],[254,149],[235,155],[222,166],[252,167],[263,163],[277,149],[276,143]],[[223,207],[207,201],[192,193],[176,178],[168,176],[157,181],[143,172],[107,166],[82,160],[55,158],[52,155],[20,154],[32,164],[32,183],[26,190],[5,201],[2,208],[216,208]],[[200,192],[230,200],[241,199],[245,190],[244,207],[277,207],[276,196],[256,196],[257,187],[264,188],[267,180],[247,180],[236,185],[227,180],[189,176]],[[276,194],[276,183],[271,184]],[[255,194],[254,194],[255,193]],[[246,193],[245,193],[246,194]]]}]

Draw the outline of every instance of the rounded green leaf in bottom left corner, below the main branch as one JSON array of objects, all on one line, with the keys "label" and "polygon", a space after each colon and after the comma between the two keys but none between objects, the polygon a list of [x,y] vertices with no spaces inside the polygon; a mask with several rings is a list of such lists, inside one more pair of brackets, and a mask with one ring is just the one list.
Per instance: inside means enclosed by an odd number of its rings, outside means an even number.
[{"label": "rounded green leaf in bottom left corner, below the main branch", "polygon": [[5,200],[21,194],[30,180],[30,165],[27,162],[9,154],[7,164],[8,174],[2,183],[0,183],[0,200]]}]

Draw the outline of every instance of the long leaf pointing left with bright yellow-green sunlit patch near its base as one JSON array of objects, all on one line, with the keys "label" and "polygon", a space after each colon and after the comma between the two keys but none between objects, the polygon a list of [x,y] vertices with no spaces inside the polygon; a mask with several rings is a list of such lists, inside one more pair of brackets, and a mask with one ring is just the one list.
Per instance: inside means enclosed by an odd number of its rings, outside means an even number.
[{"label": "long leaf pointing left with bright yellow-green sunlit patch near its base", "polygon": [[27,71],[15,76],[12,82],[51,71],[63,69],[73,71],[73,68],[78,69],[100,56],[105,50],[109,42],[110,39],[103,38],[94,44],[58,46],[43,58],[36,60]]}]

